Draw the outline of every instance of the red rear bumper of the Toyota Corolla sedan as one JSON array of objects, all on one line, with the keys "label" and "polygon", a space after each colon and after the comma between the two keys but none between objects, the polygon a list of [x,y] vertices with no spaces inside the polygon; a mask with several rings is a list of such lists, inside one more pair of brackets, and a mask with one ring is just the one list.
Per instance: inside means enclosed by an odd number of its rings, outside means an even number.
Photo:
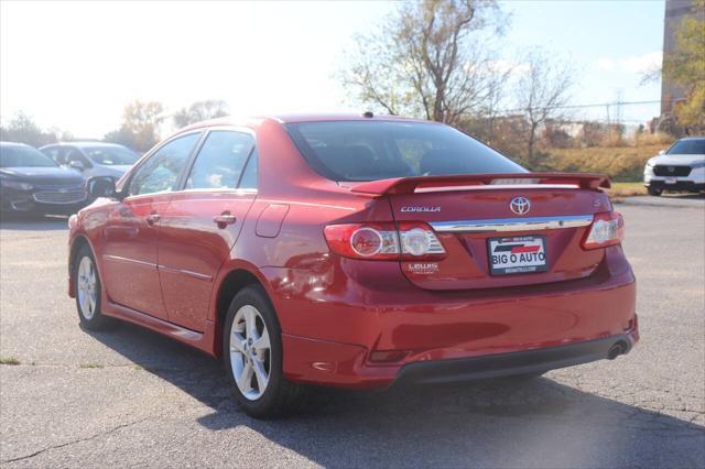
[{"label": "red rear bumper of the Toyota Corolla sedan", "polygon": [[[358,277],[367,284],[350,274],[347,288],[333,292],[317,287],[321,272],[279,275],[285,290],[271,293],[284,373],[294,381],[384,388],[426,373],[449,381],[529,373],[599,360],[639,338],[636,281],[619,247],[589,277],[496,292],[423,291],[391,263]],[[288,290],[303,277],[305,291]]]}]

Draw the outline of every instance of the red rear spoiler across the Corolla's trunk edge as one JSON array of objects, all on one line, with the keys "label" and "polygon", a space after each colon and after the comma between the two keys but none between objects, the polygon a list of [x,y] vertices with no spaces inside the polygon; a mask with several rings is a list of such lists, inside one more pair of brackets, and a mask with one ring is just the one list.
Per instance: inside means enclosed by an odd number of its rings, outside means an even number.
[{"label": "red rear spoiler across the Corolla's trunk edge", "polygon": [[[514,179],[514,181],[512,181]],[[349,183],[348,183],[349,184]],[[609,188],[607,176],[593,173],[506,173],[506,174],[468,174],[453,176],[414,176],[391,179],[371,181],[349,185],[350,192],[357,194],[389,195],[413,194],[415,192],[443,192],[463,189],[495,189],[502,185],[552,187],[576,187],[582,189]],[[487,186],[487,187],[482,187]],[[509,187],[507,187],[509,188]],[[550,187],[546,187],[550,188]]]}]

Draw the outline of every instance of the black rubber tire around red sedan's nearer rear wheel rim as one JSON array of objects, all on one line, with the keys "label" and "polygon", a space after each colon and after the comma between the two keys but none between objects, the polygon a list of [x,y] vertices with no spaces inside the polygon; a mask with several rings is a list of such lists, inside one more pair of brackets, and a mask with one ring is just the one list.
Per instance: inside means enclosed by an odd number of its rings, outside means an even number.
[{"label": "black rubber tire around red sedan's nearer rear wheel rim", "polygon": [[[232,323],[238,310],[248,305],[253,306],[260,314],[267,326],[270,339],[269,382],[264,392],[257,400],[250,400],[240,392],[230,360]],[[299,410],[304,385],[284,378],[281,327],[267,293],[259,285],[250,285],[242,288],[230,303],[223,327],[223,362],[236,401],[251,417],[276,418]]]}]

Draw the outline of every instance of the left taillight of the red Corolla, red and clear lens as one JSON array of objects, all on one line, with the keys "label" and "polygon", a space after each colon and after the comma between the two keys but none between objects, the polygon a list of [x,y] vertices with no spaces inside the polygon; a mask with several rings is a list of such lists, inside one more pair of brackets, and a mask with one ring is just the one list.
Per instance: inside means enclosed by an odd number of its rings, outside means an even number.
[{"label": "left taillight of the red Corolla, red and clear lens", "polygon": [[445,249],[423,222],[329,225],[324,230],[330,250],[352,259],[441,259]]}]

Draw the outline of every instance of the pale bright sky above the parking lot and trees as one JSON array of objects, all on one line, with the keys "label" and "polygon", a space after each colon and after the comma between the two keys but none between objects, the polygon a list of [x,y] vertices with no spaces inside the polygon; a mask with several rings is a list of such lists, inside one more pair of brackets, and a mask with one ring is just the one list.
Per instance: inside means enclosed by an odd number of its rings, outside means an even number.
[{"label": "pale bright sky above the parking lot and trees", "polygon": [[[575,103],[660,98],[663,1],[505,1],[505,59],[542,47],[577,70]],[[351,36],[398,7],[350,2],[0,2],[0,118],[100,138],[133,99],[209,98],[236,113],[351,109],[336,70]],[[614,110],[612,110],[614,111]],[[604,109],[585,111],[601,118]],[[625,107],[627,121],[658,105]]]}]

